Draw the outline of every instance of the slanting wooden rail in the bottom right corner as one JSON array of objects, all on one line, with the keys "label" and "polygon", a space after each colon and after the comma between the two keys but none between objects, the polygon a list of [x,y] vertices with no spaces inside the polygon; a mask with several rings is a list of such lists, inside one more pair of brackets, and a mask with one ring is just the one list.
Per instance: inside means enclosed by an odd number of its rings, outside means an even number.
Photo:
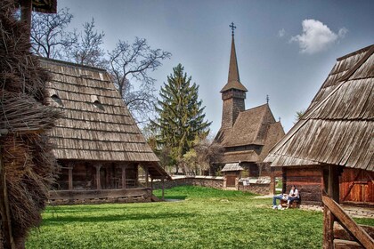
[{"label": "slanting wooden rail in the bottom right corner", "polygon": [[[367,248],[374,248],[374,239],[352,220],[346,212],[333,199],[327,196],[322,196],[322,202],[333,213],[340,224],[346,228],[363,246]],[[326,223],[325,223],[326,225]],[[328,224],[329,225],[329,224]],[[332,225],[331,225],[332,226]]]}]

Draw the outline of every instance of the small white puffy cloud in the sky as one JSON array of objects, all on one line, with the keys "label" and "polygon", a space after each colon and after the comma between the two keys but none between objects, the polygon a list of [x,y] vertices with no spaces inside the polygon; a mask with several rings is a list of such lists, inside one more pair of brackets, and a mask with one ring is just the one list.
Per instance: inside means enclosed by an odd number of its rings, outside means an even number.
[{"label": "small white puffy cloud in the sky", "polygon": [[338,39],[344,38],[348,32],[346,28],[340,28],[336,34],[321,21],[313,19],[303,20],[302,26],[303,33],[292,36],[290,42],[298,43],[301,49],[300,52],[309,54],[327,49],[329,45],[334,44]]}]

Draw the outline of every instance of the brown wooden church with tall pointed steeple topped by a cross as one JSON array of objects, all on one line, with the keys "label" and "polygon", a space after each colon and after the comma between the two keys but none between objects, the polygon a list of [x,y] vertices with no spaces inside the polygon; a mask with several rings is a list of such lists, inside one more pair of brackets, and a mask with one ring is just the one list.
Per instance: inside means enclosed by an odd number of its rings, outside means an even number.
[{"label": "brown wooden church with tall pointed steeple topped by a cross", "polygon": [[221,90],[223,100],[222,124],[215,142],[224,148],[224,157],[215,162],[220,169],[238,163],[244,169],[242,176],[269,176],[270,166],[264,163],[272,146],[284,136],[283,127],[272,115],[269,104],[245,108],[247,88],[241,84],[232,28],[232,48],[229,77]]}]

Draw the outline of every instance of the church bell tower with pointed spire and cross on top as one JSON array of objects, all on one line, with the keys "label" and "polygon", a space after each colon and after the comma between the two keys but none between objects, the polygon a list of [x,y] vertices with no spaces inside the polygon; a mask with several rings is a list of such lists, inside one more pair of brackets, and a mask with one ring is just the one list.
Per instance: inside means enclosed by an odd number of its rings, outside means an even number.
[{"label": "church bell tower with pointed spire and cross on top", "polygon": [[246,92],[248,92],[247,88],[240,83],[234,41],[234,29],[236,27],[233,22],[229,27],[232,28],[232,51],[230,54],[229,78],[227,84],[221,90],[222,100],[224,101],[221,124],[223,130],[232,128],[240,111],[246,109],[244,100],[246,99]]}]

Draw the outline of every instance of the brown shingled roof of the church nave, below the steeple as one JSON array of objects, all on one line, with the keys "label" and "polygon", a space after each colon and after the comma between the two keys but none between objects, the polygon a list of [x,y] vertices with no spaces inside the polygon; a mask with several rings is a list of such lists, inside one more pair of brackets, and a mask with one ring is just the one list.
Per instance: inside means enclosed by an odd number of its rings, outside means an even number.
[{"label": "brown shingled roof of the church nave, below the steeple", "polygon": [[[275,121],[268,104],[240,112],[231,129],[220,130],[217,134],[225,149],[248,147],[246,150],[225,152],[224,163],[262,161],[283,136],[283,127]],[[251,149],[251,146],[258,147]]]}]

